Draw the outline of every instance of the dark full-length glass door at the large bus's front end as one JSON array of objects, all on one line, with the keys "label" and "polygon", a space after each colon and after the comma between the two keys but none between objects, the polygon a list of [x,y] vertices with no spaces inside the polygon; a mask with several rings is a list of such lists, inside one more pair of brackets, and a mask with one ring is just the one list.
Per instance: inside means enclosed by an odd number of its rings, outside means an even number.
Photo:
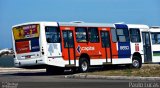
[{"label": "dark full-length glass door at the large bus's front end", "polygon": [[144,62],[152,61],[151,40],[149,32],[142,32],[143,38],[143,50],[144,50]]}]

